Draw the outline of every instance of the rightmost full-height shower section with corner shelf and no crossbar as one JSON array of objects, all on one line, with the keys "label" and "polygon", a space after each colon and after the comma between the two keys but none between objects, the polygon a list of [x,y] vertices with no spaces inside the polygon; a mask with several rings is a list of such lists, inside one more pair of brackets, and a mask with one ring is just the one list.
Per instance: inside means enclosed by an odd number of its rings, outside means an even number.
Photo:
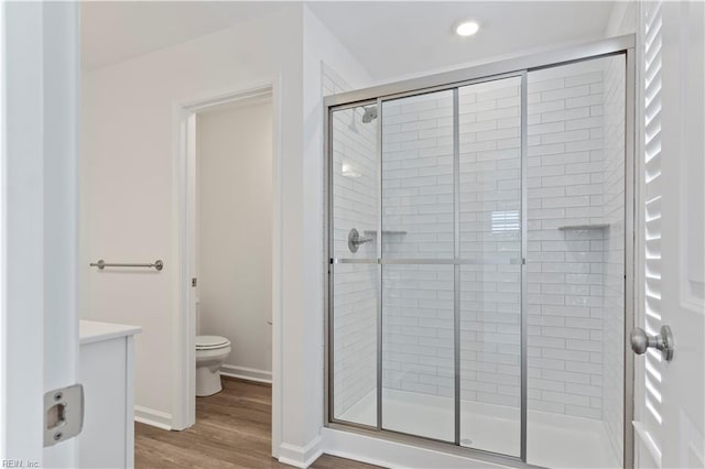
[{"label": "rightmost full-height shower section with corner shelf and no crossbar", "polygon": [[527,461],[621,467],[626,57],[532,70],[527,86]]}]

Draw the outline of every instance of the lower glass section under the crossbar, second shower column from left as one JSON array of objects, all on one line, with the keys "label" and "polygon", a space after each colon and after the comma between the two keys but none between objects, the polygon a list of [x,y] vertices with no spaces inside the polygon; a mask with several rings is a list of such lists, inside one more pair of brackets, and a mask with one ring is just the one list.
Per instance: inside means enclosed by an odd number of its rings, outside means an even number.
[{"label": "lower glass section under the crossbar, second shower column from left", "polygon": [[455,440],[453,265],[382,266],[382,428]]}]

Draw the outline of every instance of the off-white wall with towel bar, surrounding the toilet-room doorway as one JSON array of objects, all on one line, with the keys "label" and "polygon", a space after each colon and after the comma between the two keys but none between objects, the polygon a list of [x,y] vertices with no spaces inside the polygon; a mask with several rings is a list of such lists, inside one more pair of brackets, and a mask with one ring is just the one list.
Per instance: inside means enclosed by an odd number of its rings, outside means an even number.
[{"label": "off-white wall with towel bar, surrounding the toilet-room doorway", "polygon": [[[135,402],[170,425],[177,405],[172,357],[180,350],[173,340],[180,262],[174,105],[280,79],[274,102],[281,116],[274,119],[281,128],[281,198],[274,200],[274,221],[282,231],[274,233],[274,253],[281,250],[281,271],[272,283],[281,290],[273,318],[275,334],[281,331],[273,414],[281,421],[273,428],[281,430],[282,457],[299,465],[315,456],[323,424],[324,61],[356,88],[370,83],[305,6],[285,4],[232,29],[86,73],[82,86],[80,316],[143,327]],[[100,258],[160,258],[165,268],[87,268]]]}]

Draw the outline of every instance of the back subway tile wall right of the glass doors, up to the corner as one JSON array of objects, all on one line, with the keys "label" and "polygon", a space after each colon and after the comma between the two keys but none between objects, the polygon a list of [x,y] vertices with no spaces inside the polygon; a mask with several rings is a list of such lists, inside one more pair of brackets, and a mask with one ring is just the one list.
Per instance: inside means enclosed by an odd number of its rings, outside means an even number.
[{"label": "back subway tile wall right of the glass doors, up to the corner", "polygon": [[529,73],[527,110],[529,408],[596,419],[604,385],[604,68],[598,59]]}]

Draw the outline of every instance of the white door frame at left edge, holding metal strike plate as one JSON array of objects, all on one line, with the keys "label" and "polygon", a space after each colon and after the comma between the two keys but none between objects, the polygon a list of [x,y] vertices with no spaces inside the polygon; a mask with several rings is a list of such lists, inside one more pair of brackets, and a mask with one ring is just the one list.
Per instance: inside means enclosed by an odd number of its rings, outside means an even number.
[{"label": "white door frame at left edge, holding metal strike plate", "polygon": [[43,447],[43,401],[78,373],[78,3],[0,8],[0,460],[77,467],[75,439]]}]

